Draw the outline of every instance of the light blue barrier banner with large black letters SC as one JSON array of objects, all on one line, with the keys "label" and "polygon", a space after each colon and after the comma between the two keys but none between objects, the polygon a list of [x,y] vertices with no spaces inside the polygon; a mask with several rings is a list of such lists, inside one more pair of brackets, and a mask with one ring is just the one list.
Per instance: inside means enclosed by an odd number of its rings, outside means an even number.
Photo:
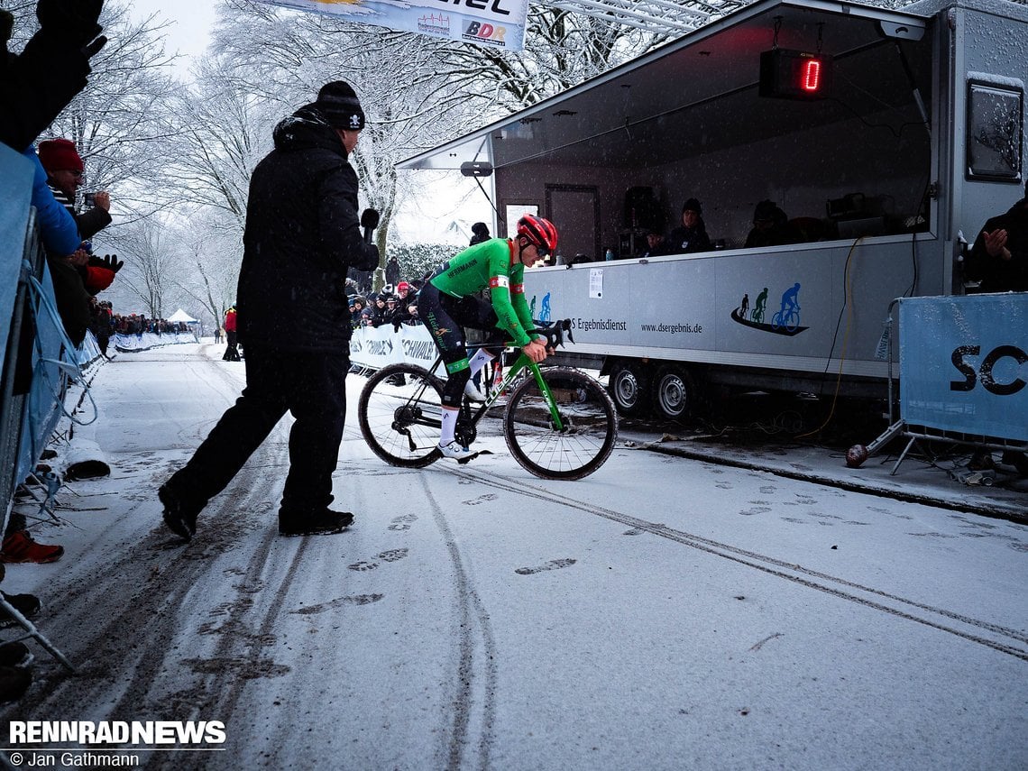
[{"label": "light blue barrier banner with large black letters SC", "polygon": [[900,415],[1028,442],[1028,293],[903,298]]}]

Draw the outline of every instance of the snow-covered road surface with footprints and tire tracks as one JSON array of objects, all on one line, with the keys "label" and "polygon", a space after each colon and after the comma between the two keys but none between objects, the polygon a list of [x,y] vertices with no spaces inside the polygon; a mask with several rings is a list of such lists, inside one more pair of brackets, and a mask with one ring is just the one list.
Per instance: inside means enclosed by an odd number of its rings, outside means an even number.
[{"label": "snow-covered road surface with footprints and tire tracks", "polygon": [[[287,418],[182,546],[155,489],[238,393],[222,350],[98,372],[81,433],[112,474],[38,533],[64,559],[3,585],[44,599],[78,673],[37,650],[6,720],[224,722],[215,751],[147,768],[1028,767],[1028,526],[830,484],[814,450],[733,467],[632,432],[577,482],[499,433],[468,466],[395,469],[352,411],[348,533],[276,535]],[[869,466],[839,473],[921,474]]]}]

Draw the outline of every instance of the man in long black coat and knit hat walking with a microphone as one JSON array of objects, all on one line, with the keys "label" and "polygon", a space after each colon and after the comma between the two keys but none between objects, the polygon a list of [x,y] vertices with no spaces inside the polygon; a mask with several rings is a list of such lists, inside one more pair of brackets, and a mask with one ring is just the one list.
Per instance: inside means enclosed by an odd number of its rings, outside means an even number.
[{"label": "man in long black coat and knit hat walking with a microphone", "polygon": [[158,490],[164,523],[186,540],[208,500],[287,410],[296,419],[279,533],[340,533],[353,522],[329,504],[346,413],[346,269],[378,264],[377,248],[361,236],[357,173],[347,161],[363,127],[354,89],[328,83],[317,102],[276,126],[274,150],[254,170],[236,295],[247,387]]}]

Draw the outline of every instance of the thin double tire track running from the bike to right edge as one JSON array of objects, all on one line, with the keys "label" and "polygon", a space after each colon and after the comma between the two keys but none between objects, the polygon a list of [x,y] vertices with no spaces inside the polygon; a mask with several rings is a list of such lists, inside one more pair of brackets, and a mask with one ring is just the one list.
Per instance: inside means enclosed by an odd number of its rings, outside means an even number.
[{"label": "thin double tire track running from the bike to right edge", "polygon": [[[866,608],[881,611],[882,613],[887,613],[918,624],[924,624],[925,626],[929,626],[933,629],[949,632],[950,634],[954,634],[971,642],[978,642],[979,645],[986,646],[987,648],[999,651],[1000,653],[1005,653],[1023,661],[1028,661],[1028,634],[1017,629],[1011,629],[1008,627],[1000,626],[999,624],[974,619],[969,616],[942,608],[934,608],[923,602],[902,597],[897,594],[882,591],[881,589],[864,586],[861,584],[848,581],[847,579],[839,578],[838,576],[812,571],[807,567],[803,567],[800,564],[785,562],[784,560],[780,560],[766,554],[741,549],[739,547],[732,546],[731,544],[713,541],[711,539],[686,533],[684,530],[677,530],[672,527],[668,527],[665,524],[648,522],[629,514],[623,514],[622,512],[608,509],[602,506],[586,504],[567,495],[553,492],[552,490],[535,487],[529,483],[525,483],[523,480],[518,480],[517,482],[505,481],[502,477],[498,477],[494,472],[489,475],[479,475],[473,471],[464,469],[449,471],[450,473],[464,477],[465,479],[474,481],[476,484],[494,487],[507,492],[527,495],[529,498],[546,501],[547,503],[560,504],[562,506],[567,506],[568,508],[578,509],[579,511],[587,514],[592,514],[621,524],[626,524],[642,533],[649,533],[653,536],[658,536],[659,538],[674,541],[683,546],[704,551],[723,559],[737,562],[746,567],[761,571],[762,573],[767,573],[786,581],[792,581],[800,584],[801,586],[806,586],[810,589],[816,589],[841,599],[856,602],[857,604],[861,604]],[[861,594],[865,596],[861,596]],[[886,602],[891,602],[893,604],[886,604]],[[915,615],[915,611],[921,611],[928,617]],[[930,618],[930,616],[939,616],[942,620],[934,620]],[[950,625],[951,622],[970,627],[970,630],[957,628],[955,625]],[[985,637],[982,636],[981,632],[991,632],[997,637],[1005,639],[992,639]],[[1018,646],[1017,644],[1022,645]]]}]

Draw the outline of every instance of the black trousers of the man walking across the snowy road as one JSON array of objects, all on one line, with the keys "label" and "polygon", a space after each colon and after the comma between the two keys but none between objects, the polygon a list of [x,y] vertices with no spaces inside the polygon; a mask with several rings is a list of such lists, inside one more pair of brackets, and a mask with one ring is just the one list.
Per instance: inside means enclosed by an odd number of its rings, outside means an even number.
[{"label": "black trousers of the man walking across the snowy road", "polygon": [[289,474],[282,512],[302,517],[332,503],[332,473],[346,419],[346,353],[247,347],[247,387],[170,483],[206,502],[221,492],[287,411]]}]

